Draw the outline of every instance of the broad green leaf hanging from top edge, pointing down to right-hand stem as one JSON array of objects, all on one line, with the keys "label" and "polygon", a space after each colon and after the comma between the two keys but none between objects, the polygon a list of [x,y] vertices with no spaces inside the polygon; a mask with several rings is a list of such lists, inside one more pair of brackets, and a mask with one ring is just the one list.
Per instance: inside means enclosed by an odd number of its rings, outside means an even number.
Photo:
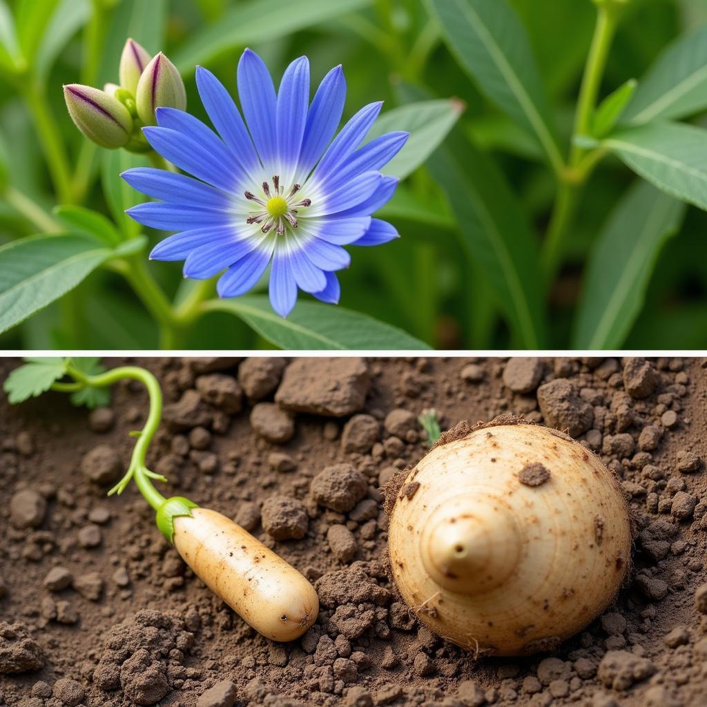
[{"label": "broad green leaf hanging from top edge, pointing down to right-hand stem", "polygon": [[556,171],[563,159],[530,42],[506,0],[426,0],[450,50],[483,93],[536,137]]}]

